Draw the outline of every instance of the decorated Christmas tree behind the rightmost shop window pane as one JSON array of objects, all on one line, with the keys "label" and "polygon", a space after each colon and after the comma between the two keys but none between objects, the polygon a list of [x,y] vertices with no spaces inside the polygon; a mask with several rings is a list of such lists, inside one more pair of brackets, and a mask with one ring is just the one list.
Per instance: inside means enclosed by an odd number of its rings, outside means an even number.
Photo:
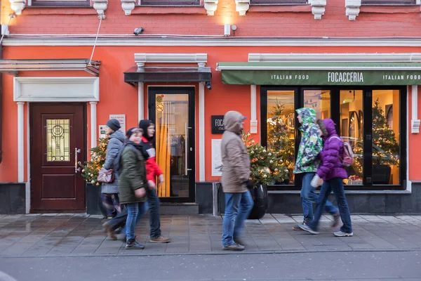
[{"label": "decorated Christmas tree behind the rightmost shop window pane", "polygon": [[399,166],[399,144],[395,133],[389,128],[385,113],[377,98],[373,106],[373,164]]}]

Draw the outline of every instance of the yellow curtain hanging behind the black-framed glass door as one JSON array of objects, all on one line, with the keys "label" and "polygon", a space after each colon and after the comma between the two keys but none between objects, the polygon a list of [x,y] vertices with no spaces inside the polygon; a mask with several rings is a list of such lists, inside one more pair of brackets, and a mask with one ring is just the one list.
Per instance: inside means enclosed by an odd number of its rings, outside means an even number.
[{"label": "yellow curtain hanging behind the black-framed glass door", "polygon": [[162,117],[156,118],[156,163],[163,171],[165,181],[157,189],[159,197],[170,197],[170,165],[171,165],[171,136],[168,131],[168,125],[171,124],[171,103],[163,103],[163,111],[156,112],[162,114]]}]

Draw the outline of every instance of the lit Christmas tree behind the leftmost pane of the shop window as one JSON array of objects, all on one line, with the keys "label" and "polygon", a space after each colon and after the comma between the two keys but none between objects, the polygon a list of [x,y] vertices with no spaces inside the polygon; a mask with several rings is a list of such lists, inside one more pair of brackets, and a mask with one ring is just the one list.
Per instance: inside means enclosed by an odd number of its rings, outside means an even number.
[{"label": "lit Christmas tree behind the leftmost pane of the shop window", "polygon": [[295,164],[294,129],[288,127],[286,115],[283,113],[285,105],[276,99],[272,108],[272,118],[267,119],[267,147],[276,152],[288,169],[289,181],[293,181]]}]

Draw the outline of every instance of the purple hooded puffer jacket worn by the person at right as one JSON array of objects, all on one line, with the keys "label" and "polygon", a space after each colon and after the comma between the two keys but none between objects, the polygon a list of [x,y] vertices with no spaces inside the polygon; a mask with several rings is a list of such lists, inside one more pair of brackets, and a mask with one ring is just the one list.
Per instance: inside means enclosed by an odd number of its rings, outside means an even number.
[{"label": "purple hooded puffer jacket worn by the person at right", "polygon": [[321,166],[317,170],[317,174],[323,181],[329,181],[332,178],[348,178],[339,155],[344,152],[344,144],[338,138],[335,129],[335,123],[332,119],[323,119],[319,122],[320,129],[323,133],[323,150],[320,152]]}]

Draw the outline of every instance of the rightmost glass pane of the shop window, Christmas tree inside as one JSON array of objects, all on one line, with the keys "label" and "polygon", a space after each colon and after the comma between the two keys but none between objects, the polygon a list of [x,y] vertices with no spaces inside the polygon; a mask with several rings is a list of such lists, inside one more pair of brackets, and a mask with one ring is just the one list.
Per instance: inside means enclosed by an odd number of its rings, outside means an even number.
[{"label": "rightmost glass pane of the shop window, Christmas tree inside", "polygon": [[373,184],[400,183],[399,102],[399,91],[373,91]]}]

